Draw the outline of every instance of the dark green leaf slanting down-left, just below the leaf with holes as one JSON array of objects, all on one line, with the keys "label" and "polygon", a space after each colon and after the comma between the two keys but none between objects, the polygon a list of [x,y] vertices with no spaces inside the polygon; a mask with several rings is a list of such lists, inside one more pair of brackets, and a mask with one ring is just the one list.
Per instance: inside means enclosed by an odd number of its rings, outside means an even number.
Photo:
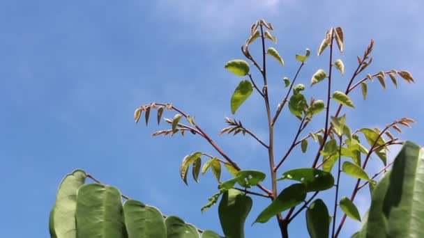
[{"label": "dark green leaf slanting down-left, just below the leaf with holes", "polygon": [[304,184],[292,184],[278,194],[277,198],[268,205],[260,214],[254,223],[266,223],[271,217],[280,212],[296,207],[303,203],[306,198],[306,188]]}]

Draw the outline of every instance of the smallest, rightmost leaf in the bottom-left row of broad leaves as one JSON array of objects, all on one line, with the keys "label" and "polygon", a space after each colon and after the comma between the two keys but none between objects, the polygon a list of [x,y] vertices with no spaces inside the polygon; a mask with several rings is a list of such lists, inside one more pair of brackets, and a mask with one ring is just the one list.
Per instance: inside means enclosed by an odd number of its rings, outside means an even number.
[{"label": "smallest, rightmost leaf in the bottom-left row of broad leaves", "polygon": [[185,223],[178,216],[168,216],[165,219],[167,238],[199,238],[199,232],[194,225]]}]

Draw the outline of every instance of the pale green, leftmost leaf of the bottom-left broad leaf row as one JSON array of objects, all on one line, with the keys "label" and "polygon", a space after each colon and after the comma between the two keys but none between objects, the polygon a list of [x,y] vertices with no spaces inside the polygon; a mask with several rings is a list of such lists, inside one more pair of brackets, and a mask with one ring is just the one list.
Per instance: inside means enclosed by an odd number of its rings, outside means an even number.
[{"label": "pale green, leftmost leaf of the bottom-left broad leaf row", "polygon": [[76,237],[77,191],[84,184],[86,173],[74,170],[66,175],[56,194],[56,203],[50,212],[50,233],[52,237]]}]

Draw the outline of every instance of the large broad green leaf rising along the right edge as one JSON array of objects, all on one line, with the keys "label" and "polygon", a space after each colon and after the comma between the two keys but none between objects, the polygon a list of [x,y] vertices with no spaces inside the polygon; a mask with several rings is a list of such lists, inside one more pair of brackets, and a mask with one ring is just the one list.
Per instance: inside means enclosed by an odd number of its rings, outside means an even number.
[{"label": "large broad green leaf rising along the right edge", "polygon": [[407,141],[372,193],[356,237],[424,237],[424,149]]}]

